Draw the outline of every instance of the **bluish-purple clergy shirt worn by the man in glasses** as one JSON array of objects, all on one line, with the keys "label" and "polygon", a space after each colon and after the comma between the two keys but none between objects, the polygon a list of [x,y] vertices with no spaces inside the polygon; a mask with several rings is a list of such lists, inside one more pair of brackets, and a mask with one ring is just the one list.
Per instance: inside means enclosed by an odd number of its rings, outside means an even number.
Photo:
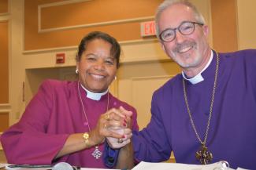
[{"label": "bluish-purple clergy shirt worn by the man in glasses", "polygon": [[[186,81],[187,99],[201,139],[210,112],[216,52],[204,81]],[[213,114],[206,146],[213,161],[228,161],[232,168],[256,169],[256,50],[219,53],[220,67]],[[165,161],[173,153],[178,163],[199,164],[195,153],[201,144],[195,136],[184,101],[182,75],[167,81],[154,92],[151,120],[147,128],[133,132],[135,158]]]}]

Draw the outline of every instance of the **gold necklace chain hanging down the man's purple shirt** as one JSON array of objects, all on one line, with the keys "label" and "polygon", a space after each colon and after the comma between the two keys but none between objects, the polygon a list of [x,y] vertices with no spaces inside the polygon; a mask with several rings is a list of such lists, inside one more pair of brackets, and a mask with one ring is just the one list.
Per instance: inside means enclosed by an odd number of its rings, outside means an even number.
[{"label": "gold necklace chain hanging down the man's purple shirt", "polygon": [[209,114],[209,118],[207,121],[207,126],[206,126],[206,134],[205,134],[205,138],[202,139],[200,138],[200,136],[198,135],[198,131],[195,128],[195,122],[192,118],[192,114],[191,114],[191,110],[189,109],[189,105],[187,102],[187,92],[186,92],[186,85],[185,85],[185,81],[183,79],[183,89],[184,89],[184,99],[185,99],[185,103],[186,103],[186,107],[187,107],[187,113],[189,115],[190,121],[191,121],[191,125],[192,128],[195,131],[195,136],[197,137],[197,139],[199,140],[199,142],[202,144],[202,146],[206,145],[206,140],[207,140],[207,136],[208,136],[208,132],[209,132],[209,128],[210,128],[210,120],[212,118],[212,114],[213,114],[213,102],[214,102],[214,96],[215,96],[215,91],[216,91],[216,86],[217,86],[217,74],[218,74],[218,70],[219,70],[219,56],[217,54],[217,63],[216,63],[216,70],[215,70],[215,77],[214,77],[214,83],[213,83],[213,93],[212,93],[212,99],[210,101],[210,114]]}]

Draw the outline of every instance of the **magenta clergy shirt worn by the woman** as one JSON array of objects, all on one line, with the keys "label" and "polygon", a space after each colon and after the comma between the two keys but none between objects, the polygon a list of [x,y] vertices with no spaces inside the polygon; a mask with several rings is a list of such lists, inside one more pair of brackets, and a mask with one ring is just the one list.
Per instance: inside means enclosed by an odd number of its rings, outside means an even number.
[{"label": "magenta clergy shirt worn by the woman", "polygon": [[[83,113],[78,88],[88,121]],[[95,159],[91,155],[95,147],[57,160],[54,157],[70,134],[88,132],[88,125],[91,129],[95,128],[100,115],[106,112],[107,98],[107,94],[99,101],[87,98],[86,91],[77,81],[44,81],[20,121],[1,136],[8,163],[51,165],[65,161],[80,167],[106,168],[102,157]],[[120,106],[132,111],[132,128],[138,129],[135,108],[109,94],[109,109]],[[104,143],[99,145],[99,150],[103,152]]]}]

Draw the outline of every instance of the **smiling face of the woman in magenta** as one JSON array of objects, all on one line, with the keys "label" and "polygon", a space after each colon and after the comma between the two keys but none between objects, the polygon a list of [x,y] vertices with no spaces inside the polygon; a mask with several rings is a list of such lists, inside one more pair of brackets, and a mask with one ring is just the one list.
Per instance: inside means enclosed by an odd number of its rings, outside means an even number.
[{"label": "smiling face of the woman in magenta", "polygon": [[102,39],[88,42],[76,63],[82,85],[91,92],[105,92],[117,72],[117,60],[110,55],[112,45]]}]

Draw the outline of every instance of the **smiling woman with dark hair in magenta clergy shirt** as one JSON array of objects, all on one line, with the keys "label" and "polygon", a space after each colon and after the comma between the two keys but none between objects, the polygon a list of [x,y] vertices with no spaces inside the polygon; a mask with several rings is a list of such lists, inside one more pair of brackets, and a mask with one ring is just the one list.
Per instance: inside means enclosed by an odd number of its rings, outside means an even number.
[{"label": "smiling woman with dark hair in magenta clergy shirt", "polygon": [[106,137],[116,138],[120,143],[116,147],[121,147],[132,136],[128,127],[138,129],[135,109],[108,91],[120,53],[120,45],[109,34],[87,34],[76,55],[79,81],[44,81],[20,121],[2,134],[8,162],[51,165],[65,161],[106,168],[102,158]]}]

